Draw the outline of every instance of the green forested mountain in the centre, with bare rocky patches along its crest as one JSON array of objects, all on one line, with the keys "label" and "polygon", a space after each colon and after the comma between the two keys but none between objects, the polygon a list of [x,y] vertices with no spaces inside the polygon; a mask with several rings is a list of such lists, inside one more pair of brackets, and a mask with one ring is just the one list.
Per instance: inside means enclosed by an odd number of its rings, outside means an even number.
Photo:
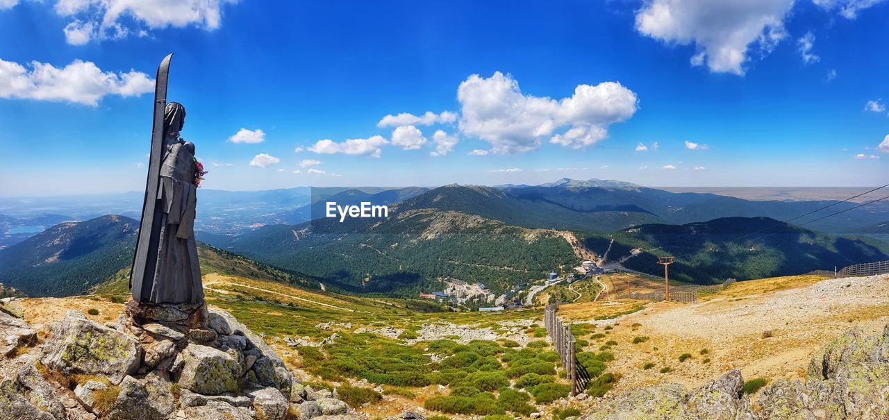
[{"label": "green forested mountain in the centre, with bare rocky patches along its crest", "polygon": [[456,211],[408,210],[370,220],[266,226],[229,249],[328,287],[403,295],[439,288],[444,278],[481,281],[496,292],[576,261],[556,232]]}]

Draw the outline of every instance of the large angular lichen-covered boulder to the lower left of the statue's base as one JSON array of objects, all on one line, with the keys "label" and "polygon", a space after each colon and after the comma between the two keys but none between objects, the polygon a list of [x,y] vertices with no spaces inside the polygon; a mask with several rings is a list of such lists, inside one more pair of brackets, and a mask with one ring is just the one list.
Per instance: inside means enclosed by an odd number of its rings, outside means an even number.
[{"label": "large angular lichen-covered boulder to the lower left of the statue's base", "polygon": [[140,352],[134,338],[69,312],[52,328],[41,361],[64,375],[104,376],[119,384],[139,368]]}]

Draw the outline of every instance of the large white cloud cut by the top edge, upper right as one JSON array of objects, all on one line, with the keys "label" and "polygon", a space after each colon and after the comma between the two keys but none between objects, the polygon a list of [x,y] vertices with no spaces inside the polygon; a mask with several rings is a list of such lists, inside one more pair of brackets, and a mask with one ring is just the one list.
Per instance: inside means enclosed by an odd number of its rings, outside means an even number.
[{"label": "large white cloud cut by the top edge, upper right", "polygon": [[636,14],[636,29],[667,44],[693,44],[693,66],[744,74],[751,45],[763,54],[787,36],[783,20],[793,0],[649,0]]}]

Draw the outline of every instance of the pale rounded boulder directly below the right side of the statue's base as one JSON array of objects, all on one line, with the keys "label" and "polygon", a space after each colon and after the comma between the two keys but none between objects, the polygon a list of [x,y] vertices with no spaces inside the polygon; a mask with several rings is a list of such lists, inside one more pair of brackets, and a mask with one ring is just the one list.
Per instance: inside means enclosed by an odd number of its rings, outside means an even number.
[{"label": "pale rounded boulder directly below the right side of the statue's base", "polygon": [[228,353],[190,344],[179,353],[174,365],[181,366],[180,386],[190,391],[215,395],[237,390],[240,368]]}]

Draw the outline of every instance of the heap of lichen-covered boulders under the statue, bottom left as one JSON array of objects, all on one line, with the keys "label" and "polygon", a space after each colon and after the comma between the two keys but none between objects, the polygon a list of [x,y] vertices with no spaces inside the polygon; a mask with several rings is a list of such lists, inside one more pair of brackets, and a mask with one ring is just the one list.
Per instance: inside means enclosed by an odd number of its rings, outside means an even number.
[{"label": "heap of lichen-covered boulders under the statue, bottom left", "polygon": [[36,347],[27,323],[0,312],[0,418],[361,418],[335,391],[300,384],[230,313],[204,311],[203,326],[185,329],[123,316],[100,325],[69,311]]}]

